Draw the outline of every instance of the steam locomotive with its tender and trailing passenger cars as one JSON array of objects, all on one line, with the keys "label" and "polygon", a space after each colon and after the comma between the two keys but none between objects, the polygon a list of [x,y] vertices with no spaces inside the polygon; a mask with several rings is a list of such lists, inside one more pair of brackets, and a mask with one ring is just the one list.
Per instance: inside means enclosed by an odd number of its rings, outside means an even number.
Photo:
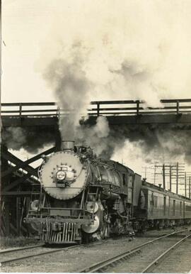
[{"label": "steam locomotive with its tender and trailing passenger cars", "polygon": [[151,185],[125,165],[63,141],[39,170],[26,223],[47,243],[81,243],[191,219],[190,199]]}]

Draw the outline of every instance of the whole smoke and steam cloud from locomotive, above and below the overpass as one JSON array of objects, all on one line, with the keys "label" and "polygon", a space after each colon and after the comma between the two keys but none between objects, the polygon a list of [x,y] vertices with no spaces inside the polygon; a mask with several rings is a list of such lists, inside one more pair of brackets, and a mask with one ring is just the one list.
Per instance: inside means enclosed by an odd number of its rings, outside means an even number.
[{"label": "whole smoke and steam cloud from locomotive, above and below the overpass", "polygon": [[109,150],[118,160],[123,150],[129,163],[144,161],[152,145],[190,159],[182,144],[176,145],[180,136],[170,138],[172,131],[152,138],[137,128],[120,134],[104,118],[87,128],[79,125],[79,117],[91,100],[141,99],[147,106],[161,106],[160,99],[189,97],[191,2],[81,0],[67,5],[52,24],[41,58],[59,106],[71,112],[60,120],[62,138],[83,141],[98,155]]}]

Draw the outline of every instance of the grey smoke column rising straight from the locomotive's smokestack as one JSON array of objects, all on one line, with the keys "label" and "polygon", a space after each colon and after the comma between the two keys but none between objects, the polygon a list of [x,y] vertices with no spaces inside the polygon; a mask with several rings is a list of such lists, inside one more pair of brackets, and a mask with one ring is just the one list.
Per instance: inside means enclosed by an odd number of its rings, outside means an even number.
[{"label": "grey smoke column rising straight from the locomotive's smokestack", "polygon": [[[76,138],[79,119],[85,112],[91,93],[91,82],[81,68],[81,58],[71,63],[57,59],[50,63],[44,77],[51,84],[60,108],[59,128],[64,140]],[[68,115],[69,114],[69,115]]]}]

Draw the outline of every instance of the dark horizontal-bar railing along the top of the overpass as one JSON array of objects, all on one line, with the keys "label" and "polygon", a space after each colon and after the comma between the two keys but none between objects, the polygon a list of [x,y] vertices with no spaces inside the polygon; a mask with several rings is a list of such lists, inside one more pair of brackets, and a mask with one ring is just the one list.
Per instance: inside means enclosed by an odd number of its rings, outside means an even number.
[{"label": "dark horizontal-bar railing along the top of the overpass", "polygon": [[[62,116],[75,110],[59,109],[54,102],[33,103],[3,103],[1,104],[1,116],[25,117],[25,116]],[[160,114],[184,114],[191,113],[191,99],[163,99],[161,106],[147,106],[146,102],[139,100],[96,101],[88,107],[89,116],[119,116],[119,115],[160,115]]]}]

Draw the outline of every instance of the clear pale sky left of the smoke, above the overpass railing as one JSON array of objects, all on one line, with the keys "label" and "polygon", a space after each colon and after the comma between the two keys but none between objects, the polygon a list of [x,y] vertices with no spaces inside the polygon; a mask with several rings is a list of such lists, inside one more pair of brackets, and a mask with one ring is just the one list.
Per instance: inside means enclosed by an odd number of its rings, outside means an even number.
[{"label": "clear pale sky left of the smoke, above the overpass railing", "polygon": [[2,2],[2,39],[6,45],[2,44],[1,102],[54,102],[52,91],[36,70],[51,27],[51,1]]}]

